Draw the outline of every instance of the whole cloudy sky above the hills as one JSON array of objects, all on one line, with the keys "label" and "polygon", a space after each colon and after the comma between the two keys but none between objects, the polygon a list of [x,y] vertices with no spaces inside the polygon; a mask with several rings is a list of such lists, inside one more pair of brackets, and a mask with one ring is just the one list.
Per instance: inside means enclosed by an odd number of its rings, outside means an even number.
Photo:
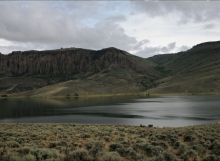
[{"label": "whole cloudy sky above the hills", "polygon": [[220,39],[218,0],[0,1],[0,52],[116,47],[147,58]]}]

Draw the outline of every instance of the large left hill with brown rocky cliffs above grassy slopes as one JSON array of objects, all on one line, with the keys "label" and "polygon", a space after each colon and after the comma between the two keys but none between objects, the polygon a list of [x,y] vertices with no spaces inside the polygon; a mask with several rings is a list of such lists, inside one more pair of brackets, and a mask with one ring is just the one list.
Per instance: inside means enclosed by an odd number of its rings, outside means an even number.
[{"label": "large left hill with brown rocky cliffs above grassy slopes", "polygon": [[[0,55],[0,94],[133,93],[160,78],[154,63],[116,48],[17,51]],[[28,91],[28,92],[26,92]]]}]

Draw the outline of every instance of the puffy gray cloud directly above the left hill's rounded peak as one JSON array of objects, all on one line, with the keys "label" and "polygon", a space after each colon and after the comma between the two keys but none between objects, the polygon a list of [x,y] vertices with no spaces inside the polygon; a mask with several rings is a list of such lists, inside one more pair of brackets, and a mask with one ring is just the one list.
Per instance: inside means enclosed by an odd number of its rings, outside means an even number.
[{"label": "puffy gray cloud directly above the left hill's rounded peak", "polygon": [[84,27],[79,30],[77,42],[80,46],[92,49],[100,49],[114,46],[123,50],[129,50],[137,43],[134,37],[125,34],[123,28],[115,23],[101,22],[94,28]]}]

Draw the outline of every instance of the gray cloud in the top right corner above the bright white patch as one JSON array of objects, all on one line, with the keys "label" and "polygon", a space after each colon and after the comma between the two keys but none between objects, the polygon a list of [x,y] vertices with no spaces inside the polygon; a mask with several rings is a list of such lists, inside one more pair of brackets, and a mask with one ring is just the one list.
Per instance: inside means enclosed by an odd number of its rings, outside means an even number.
[{"label": "gray cloud in the top right corner above the bright white patch", "polygon": [[179,24],[188,22],[208,22],[218,20],[220,16],[220,2],[207,1],[166,1],[166,2],[144,2],[132,1],[134,7],[141,13],[150,17],[164,17],[178,15]]}]

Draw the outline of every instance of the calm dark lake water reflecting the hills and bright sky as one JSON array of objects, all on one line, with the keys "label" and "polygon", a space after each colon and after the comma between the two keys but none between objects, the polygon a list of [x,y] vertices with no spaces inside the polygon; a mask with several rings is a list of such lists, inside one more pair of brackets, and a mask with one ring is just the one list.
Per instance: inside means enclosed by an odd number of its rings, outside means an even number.
[{"label": "calm dark lake water reflecting the hills and bright sky", "polygon": [[0,99],[0,122],[181,127],[220,121],[220,96]]}]

